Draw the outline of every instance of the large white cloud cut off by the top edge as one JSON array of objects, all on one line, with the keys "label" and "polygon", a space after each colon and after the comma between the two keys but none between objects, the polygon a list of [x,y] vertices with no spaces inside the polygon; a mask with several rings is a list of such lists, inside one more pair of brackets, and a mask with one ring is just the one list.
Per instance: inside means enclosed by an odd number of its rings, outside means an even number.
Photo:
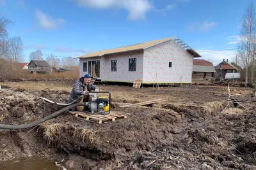
[{"label": "large white cloud cut off by the top edge", "polygon": [[129,12],[129,19],[143,19],[148,10],[153,8],[149,0],[74,0],[79,6],[88,8],[121,8]]}]

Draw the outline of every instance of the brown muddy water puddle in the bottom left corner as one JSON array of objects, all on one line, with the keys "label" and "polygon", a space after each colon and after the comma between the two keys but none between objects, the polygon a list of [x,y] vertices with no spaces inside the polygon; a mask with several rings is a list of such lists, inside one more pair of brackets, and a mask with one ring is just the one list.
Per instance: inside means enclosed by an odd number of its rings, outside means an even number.
[{"label": "brown muddy water puddle in the bottom left corner", "polygon": [[[62,165],[63,166],[63,165]],[[67,168],[67,167],[66,167]],[[38,157],[10,160],[0,164],[1,170],[62,170],[53,160]],[[70,170],[70,169],[68,169]]]}]

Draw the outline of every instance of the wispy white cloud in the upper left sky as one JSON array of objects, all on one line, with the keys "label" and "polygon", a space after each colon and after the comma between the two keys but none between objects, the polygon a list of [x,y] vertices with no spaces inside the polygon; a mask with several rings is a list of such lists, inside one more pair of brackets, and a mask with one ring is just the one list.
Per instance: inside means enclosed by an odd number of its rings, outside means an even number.
[{"label": "wispy white cloud in the upper left sky", "polygon": [[56,29],[60,24],[63,24],[65,20],[62,18],[52,18],[51,16],[45,14],[43,11],[36,11],[36,18],[40,26],[44,29],[53,30]]}]

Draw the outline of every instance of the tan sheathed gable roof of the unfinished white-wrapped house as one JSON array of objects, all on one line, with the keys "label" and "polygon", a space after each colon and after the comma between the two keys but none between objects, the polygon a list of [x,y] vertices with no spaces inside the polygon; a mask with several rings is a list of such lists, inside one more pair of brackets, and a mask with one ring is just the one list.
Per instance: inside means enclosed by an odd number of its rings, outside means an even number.
[{"label": "tan sheathed gable roof of the unfinished white-wrapped house", "polygon": [[176,43],[178,43],[180,46],[185,48],[189,53],[194,55],[194,57],[201,57],[197,52],[195,52],[195,50],[193,50],[190,46],[186,45],[186,43],[184,43],[181,39],[179,39],[177,37],[170,37],[170,38],[156,39],[154,41],[147,41],[144,43],[138,43],[138,44],[134,44],[134,45],[122,46],[122,47],[118,47],[118,48],[111,48],[108,50],[101,50],[98,52],[92,52],[92,53],[88,53],[86,55],[82,55],[80,57],[75,57],[75,59],[77,59],[77,58],[83,59],[83,58],[88,58],[88,57],[100,57],[100,56],[111,54],[111,53],[143,50],[145,48],[149,48],[150,46],[158,45],[160,43],[164,43],[164,42],[170,41],[170,40],[173,40]]}]

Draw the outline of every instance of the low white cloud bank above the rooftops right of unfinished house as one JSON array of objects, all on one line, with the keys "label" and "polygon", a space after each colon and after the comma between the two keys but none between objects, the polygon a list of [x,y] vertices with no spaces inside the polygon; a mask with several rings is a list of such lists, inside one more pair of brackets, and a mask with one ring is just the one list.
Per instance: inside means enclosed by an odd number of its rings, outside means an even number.
[{"label": "low white cloud bank above the rooftops right of unfinished house", "polygon": [[196,50],[202,57],[198,59],[209,60],[214,66],[218,65],[223,59],[233,62],[236,57],[235,50]]}]

